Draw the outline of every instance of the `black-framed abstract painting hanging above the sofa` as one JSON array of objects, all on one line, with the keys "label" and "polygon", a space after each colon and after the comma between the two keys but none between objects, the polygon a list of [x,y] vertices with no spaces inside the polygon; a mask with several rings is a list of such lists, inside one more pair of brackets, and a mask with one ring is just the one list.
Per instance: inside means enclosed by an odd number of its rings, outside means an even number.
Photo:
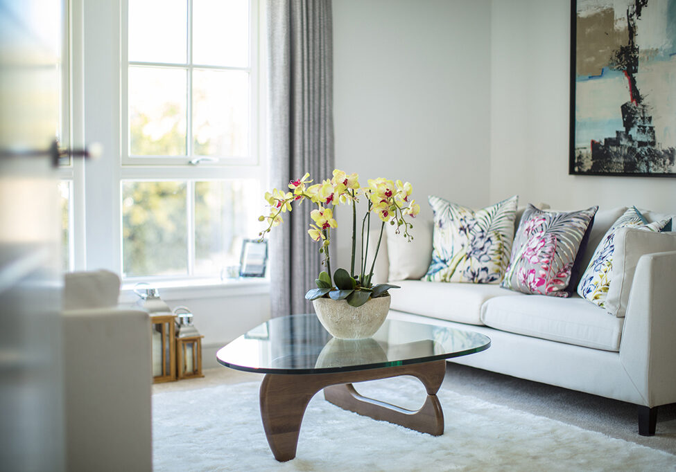
[{"label": "black-framed abstract painting hanging above the sofa", "polygon": [[571,5],[569,174],[676,176],[676,0]]}]

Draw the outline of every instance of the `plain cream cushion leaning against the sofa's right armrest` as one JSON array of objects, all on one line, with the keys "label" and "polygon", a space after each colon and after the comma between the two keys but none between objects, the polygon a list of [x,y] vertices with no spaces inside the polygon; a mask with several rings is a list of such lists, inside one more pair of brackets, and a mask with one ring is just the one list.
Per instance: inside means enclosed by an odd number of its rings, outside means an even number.
[{"label": "plain cream cushion leaning against the sofa's right armrest", "polygon": [[676,233],[653,233],[637,228],[619,228],[615,235],[612,279],[605,309],[613,316],[627,312],[636,264],[642,255],[676,251]]}]

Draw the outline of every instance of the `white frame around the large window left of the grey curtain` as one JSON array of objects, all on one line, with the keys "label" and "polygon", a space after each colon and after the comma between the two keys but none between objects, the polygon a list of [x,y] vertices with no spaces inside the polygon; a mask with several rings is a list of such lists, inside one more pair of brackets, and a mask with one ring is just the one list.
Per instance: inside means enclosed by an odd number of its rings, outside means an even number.
[{"label": "white frame around the large window left of the grey curtain", "polygon": [[[83,0],[72,0],[82,2]],[[263,156],[266,147],[266,102],[264,41],[261,40],[264,16],[262,0],[250,0],[252,21],[250,42],[250,69],[252,107],[250,119],[251,158],[223,158],[219,163],[188,165],[191,156],[182,158],[136,158],[125,154],[128,149],[128,126],[126,98],[126,30],[125,18],[128,0],[83,2],[83,87],[86,100],[83,107],[83,122],[87,124],[87,143],[101,143],[103,157],[87,161],[83,202],[80,209],[87,222],[83,235],[76,239],[76,246],[85,248],[86,268],[108,269],[122,273],[122,205],[123,181],[213,181],[220,179],[255,179],[261,189],[268,181],[268,159]],[[191,1],[191,0],[189,0]],[[115,58],[118,59],[115,59]],[[190,116],[190,111],[188,111]],[[190,119],[190,118],[189,118]],[[129,161],[131,159],[131,161]],[[236,162],[235,162],[236,161]],[[77,181],[77,178],[76,178]],[[261,194],[262,195],[262,194]],[[77,203],[77,200],[76,200]],[[261,203],[263,202],[261,196]],[[77,207],[77,204],[76,204]],[[262,208],[262,205],[261,205]],[[191,210],[189,209],[189,212]],[[78,214],[78,208],[75,210]],[[189,217],[189,221],[191,218]],[[193,237],[189,233],[189,239]],[[189,253],[194,251],[189,246]],[[189,260],[189,262],[191,262]],[[223,282],[220,278],[201,278],[180,275],[173,277],[143,277],[124,280],[127,285],[144,281],[156,287],[193,287],[227,284],[266,286],[266,281]]]}]

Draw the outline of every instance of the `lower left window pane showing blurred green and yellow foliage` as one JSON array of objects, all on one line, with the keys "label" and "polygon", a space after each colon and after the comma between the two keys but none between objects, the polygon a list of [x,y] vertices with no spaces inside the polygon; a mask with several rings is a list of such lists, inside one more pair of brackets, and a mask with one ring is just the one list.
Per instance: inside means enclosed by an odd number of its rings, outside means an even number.
[{"label": "lower left window pane showing blurred green and yellow foliage", "polygon": [[122,272],[187,274],[186,183],[122,183]]}]

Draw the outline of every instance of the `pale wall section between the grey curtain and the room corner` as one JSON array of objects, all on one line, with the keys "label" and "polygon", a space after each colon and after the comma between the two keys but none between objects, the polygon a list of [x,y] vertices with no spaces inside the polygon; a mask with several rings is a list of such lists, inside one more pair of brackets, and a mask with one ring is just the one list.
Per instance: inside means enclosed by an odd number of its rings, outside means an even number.
[{"label": "pale wall section between the grey curtain and the room corner", "polygon": [[489,0],[334,1],[336,167],[410,181],[426,213],[428,194],[489,203],[489,80]]}]

